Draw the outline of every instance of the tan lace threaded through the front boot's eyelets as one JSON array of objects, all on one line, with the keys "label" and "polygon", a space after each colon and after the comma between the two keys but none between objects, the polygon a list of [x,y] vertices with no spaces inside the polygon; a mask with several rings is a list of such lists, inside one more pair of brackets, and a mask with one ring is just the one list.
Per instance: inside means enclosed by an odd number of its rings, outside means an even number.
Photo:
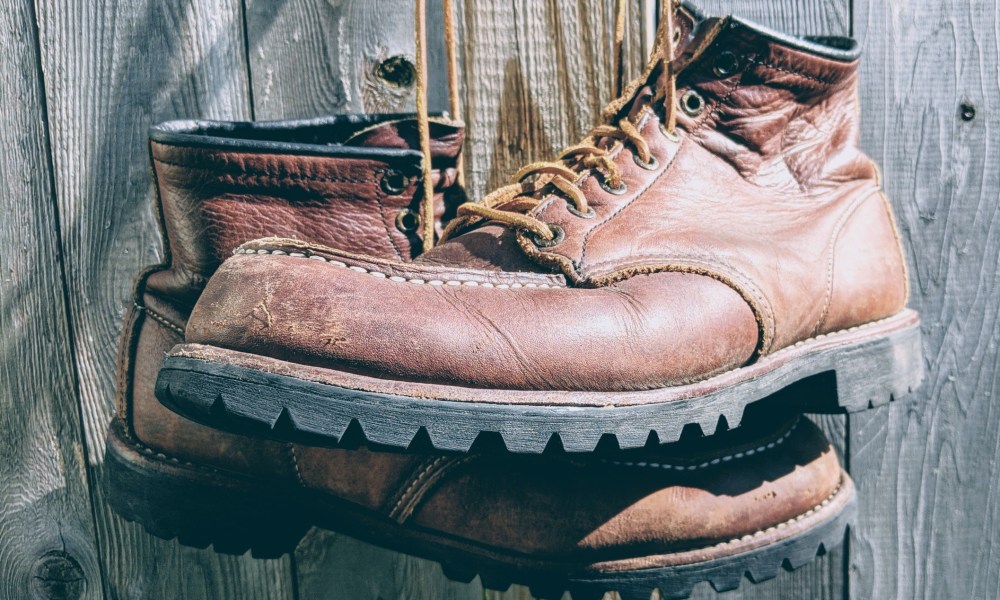
[{"label": "tan lace threaded through the front boot's eyelets", "polygon": [[[656,99],[663,100],[666,112],[664,127],[669,134],[673,135],[677,128],[677,76],[673,65],[676,0],[667,0],[663,5],[664,14],[661,19],[663,25],[659,28],[654,53],[656,59],[662,64],[664,76],[661,78],[661,89],[657,91]],[[622,53],[625,8],[625,0],[618,0],[615,9],[617,13],[615,20],[615,52],[617,54],[615,88],[620,96],[625,96],[623,92],[628,92],[628,95],[631,95],[638,87],[637,84],[633,84],[629,86],[628,90],[622,89],[624,82]],[[608,106],[603,113],[604,120],[612,121],[624,107],[626,100],[627,98],[619,97],[617,101]],[[583,214],[589,213],[590,207],[586,195],[580,189],[580,183],[587,174],[596,173],[601,178],[602,186],[605,189],[609,191],[622,189],[624,182],[621,171],[612,160],[618,144],[621,143],[629,144],[641,161],[651,162],[652,155],[649,144],[628,117],[620,119],[616,124],[599,125],[587,134],[583,142],[563,150],[555,161],[532,163],[514,175],[513,183],[497,189],[481,202],[468,202],[461,205],[458,208],[458,217],[445,229],[442,240],[448,239],[455,232],[468,227],[486,221],[496,221],[529,233],[538,240],[552,241],[556,237],[556,232],[553,231],[552,227],[528,214],[543,199],[543,195],[538,194],[538,192],[554,189],[566,197],[574,210]]]}]

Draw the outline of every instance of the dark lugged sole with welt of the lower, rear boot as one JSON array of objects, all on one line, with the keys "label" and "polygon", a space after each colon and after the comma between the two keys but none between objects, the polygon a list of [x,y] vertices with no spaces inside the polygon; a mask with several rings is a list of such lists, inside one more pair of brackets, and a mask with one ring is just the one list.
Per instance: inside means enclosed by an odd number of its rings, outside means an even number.
[{"label": "dark lugged sole with welt of the lower, rear boot", "polygon": [[671,566],[601,570],[526,564],[523,558],[462,547],[433,532],[400,526],[317,492],[185,463],[130,442],[117,423],[108,435],[104,472],[112,509],[160,538],[273,558],[294,551],[316,525],[436,561],[452,580],[471,582],[478,576],[485,587],[501,591],[515,583],[527,585],[538,598],[560,598],[564,591],[574,599],[601,598],[613,590],[623,600],[645,600],[659,589],[662,598],[679,600],[703,581],[717,591],[737,589],[744,578],[760,583],[839,545],[856,512],[854,487],[845,475],[838,492],[809,513],[721,545],[732,547],[730,555],[685,562],[701,553],[694,550],[660,557]]}]

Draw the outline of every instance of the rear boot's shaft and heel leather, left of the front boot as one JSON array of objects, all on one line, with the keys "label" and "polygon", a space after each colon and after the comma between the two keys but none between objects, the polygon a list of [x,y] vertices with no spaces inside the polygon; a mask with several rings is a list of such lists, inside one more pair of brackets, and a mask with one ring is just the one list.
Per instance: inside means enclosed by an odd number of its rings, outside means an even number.
[{"label": "rear boot's shaft and heel leather, left of the front boot", "polygon": [[[435,206],[444,217],[462,198],[453,184],[464,131],[439,121],[431,133]],[[405,116],[177,121],[153,128],[165,263],[139,277],[125,317],[109,453],[125,445],[218,468],[291,472],[284,445],[225,434],[164,408],[153,395],[157,371],[164,353],[183,341],[205,282],[248,239],[323,240],[397,260],[418,253],[422,154],[414,150],[416,138],[416,122]],[[117,498],[114,489],[110,495]]]}]

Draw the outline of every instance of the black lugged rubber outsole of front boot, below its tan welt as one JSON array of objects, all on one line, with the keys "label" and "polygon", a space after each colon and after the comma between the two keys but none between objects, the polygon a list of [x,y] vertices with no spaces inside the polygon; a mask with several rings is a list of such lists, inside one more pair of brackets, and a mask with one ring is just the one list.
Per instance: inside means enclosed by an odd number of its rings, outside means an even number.
[{"label": "black lugged rubber outsole of front boot, below its tan welt", "polygon": [[[477,441],[516,453],[592,452],[663,444],[734,428],[748,405],[857,412],[912,392],[923,378],[918,325],[820,349],[733,385],[641,405],[565,406],[427,399],[368,392],[222,361],[168,356],[156,395],[171,410],[219,429],[311,445],[426,445],[467,452]],[[498,392],[500,394],[502,392]],[[609,398],[613,398],[609,395]]]}]

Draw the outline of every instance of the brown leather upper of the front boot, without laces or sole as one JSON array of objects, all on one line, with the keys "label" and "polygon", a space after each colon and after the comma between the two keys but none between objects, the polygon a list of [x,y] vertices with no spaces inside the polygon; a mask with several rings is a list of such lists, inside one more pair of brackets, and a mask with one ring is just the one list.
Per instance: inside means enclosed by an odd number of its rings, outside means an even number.
[{"label": "brown leather upper of the front boot, without laces or sole", "polygon": [[[858,147],[858,60],[724,23],[681,74],[678,95],[697,90],[706,108],[682,111],[679,140],[662,132],[654,85],[622,109],[656,168],[619,146],[625,193],[605,191],[598,175],[579,182],[593,218],[572,214],[560,195],[541,199],[533,214],[565,232],[556,245],[487,224],[411,265],[237,256],[209,284],[189,341],[387,379],[631,391],[703,379],[899,313],[899,238]],[[715,68],[724,53],[737,59],[729,75]],[[250,247],[264,246],[326,252]],[[467,282],[447,281],[462,271]],[[482,285],[543,276],[567,288]]]}]

